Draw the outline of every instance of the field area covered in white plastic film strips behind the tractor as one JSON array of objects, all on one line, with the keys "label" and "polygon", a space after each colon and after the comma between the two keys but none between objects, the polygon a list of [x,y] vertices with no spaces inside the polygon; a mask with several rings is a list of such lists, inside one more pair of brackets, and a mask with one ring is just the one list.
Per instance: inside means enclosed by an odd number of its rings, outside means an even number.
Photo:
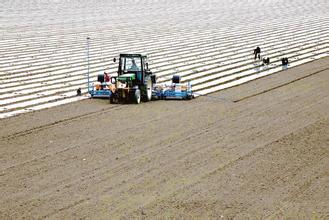
[{"label": "field area covered in white plastic film strips behind the tractor", "polygon": [[[149,55],[159,83],[174,74],[208,94],[328,56],[327,0],[4,0],[0,118],[88,98],[90,77],[119,53]],[[271,58],[254,61],[253,50]]]}]

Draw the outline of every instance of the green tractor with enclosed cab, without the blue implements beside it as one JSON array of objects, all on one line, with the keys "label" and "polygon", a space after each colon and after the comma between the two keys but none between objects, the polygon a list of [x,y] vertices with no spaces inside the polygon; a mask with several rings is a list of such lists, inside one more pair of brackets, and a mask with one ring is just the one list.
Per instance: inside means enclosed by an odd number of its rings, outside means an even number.
[{"label": "green tractor with enclosed cab, without the blue implements beside it", "polygon": [[[116,62],[116,58],[113,59]],[[147,56],[141,54],[120,54],[118,76],[112,77],[115,84],[110,96],[111,103],[152,100],[155,75],[148,68]]]}]

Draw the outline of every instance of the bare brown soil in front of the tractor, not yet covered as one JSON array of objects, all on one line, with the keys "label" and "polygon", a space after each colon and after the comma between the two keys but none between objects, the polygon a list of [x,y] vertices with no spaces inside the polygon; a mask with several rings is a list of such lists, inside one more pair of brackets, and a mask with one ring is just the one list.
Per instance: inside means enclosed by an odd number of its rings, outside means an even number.
[{"label": "bare brown soil in front of the tractor, not yet covered", "polygon": [[0,218],[329,218],[329,58],[189,102],[1,120]]}]

